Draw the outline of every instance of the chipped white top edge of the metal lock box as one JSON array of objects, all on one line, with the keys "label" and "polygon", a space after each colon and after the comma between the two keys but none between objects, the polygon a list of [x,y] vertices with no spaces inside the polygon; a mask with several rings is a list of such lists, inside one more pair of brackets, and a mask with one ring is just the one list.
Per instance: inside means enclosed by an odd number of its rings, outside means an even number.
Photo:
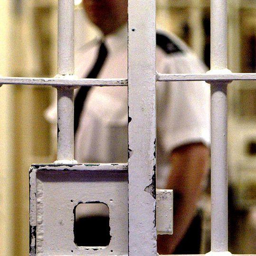
[{"label": "chipped white top edge of the metal lock box", "polygon": [[128,171],[128,163],[32,164],[37,170],[58,171]]}]

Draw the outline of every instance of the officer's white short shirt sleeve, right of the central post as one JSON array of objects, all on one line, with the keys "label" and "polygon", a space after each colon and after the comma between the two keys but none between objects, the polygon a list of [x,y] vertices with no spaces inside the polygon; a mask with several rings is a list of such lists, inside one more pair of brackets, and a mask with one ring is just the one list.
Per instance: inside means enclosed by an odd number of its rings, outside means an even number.
[{"label": "officer's white short shirt sleeve, right of the central post", "polygon": [[[206,67],[190,53],[158,60],[158,72],[204,73]],[[158,140],[165,152],[193,142],[210,143],[210,87],[205,82],[158,82]]]}]

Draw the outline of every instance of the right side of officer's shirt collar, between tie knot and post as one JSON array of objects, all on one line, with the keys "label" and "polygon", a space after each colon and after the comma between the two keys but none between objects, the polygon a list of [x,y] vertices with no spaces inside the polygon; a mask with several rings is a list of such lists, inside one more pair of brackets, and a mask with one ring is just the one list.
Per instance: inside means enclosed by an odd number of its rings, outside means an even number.
[{"label": "right side of officer's shirt collar, between tie knot and post", "polygon": [[119,28],[114,34],[104,38],[104,43],[110,52],[122,50],[128,45],[128,28],[127,23]]}]

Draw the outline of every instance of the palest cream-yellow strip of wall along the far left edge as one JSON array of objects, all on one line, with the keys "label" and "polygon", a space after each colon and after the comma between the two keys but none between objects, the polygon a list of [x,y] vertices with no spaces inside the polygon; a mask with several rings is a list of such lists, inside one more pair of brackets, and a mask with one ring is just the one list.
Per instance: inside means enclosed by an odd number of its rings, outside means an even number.
[{"label": "palest cream-yellow strip of wall along the far left edge", "polygon": [[[9,74],[10,1],[0,3],[0,75]],[[0,87],[0,254],[13,255],[14,250],[14,162],[13,162],[13,94],[11,86]]]}]

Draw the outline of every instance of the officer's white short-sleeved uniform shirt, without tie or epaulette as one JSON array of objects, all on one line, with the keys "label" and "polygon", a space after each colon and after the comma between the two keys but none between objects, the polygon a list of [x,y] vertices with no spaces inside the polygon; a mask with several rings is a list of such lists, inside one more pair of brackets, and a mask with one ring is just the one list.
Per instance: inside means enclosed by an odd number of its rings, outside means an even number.
[{"label": "officer's white short-sleeved uniform shirt, without tie or epaulette", "polygon": [[[159,73],[203,73],[205,66],[189,48],[170,36],[183,52],[166,54],[157,47]],[[108,49],[98,78],[127,78],[127,27],[107,36]],[[75,75],[86,77],[95,64],[101,41],[76,54]],[[205,82],[157,83],[157,186],[165,186],[171,151],[191,142],[210,142],[209,85]],[[75,138],[79,162],[127,162],[127,87],[92,87],[85,100]]]}]

